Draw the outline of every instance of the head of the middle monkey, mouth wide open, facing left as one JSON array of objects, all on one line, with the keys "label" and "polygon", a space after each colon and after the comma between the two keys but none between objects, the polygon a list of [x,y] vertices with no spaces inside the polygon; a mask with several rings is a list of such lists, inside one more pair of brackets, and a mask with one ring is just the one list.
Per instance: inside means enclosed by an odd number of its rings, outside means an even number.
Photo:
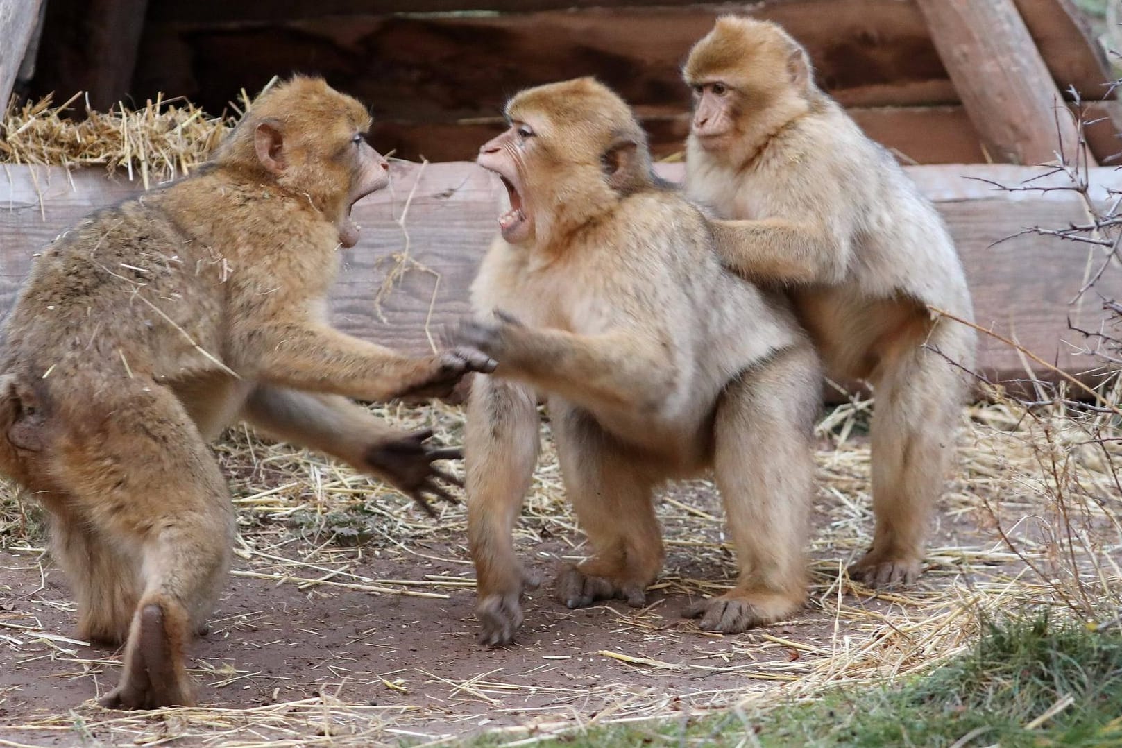
[{"label": "head of the middle monkey, mouth wide open, facing left", "polygon": [[479,149],[511,198],[498,219],[512,244],[549,241],[653,183],[646,135],[631,108],[590,77],[517,93],[511,127]]}]

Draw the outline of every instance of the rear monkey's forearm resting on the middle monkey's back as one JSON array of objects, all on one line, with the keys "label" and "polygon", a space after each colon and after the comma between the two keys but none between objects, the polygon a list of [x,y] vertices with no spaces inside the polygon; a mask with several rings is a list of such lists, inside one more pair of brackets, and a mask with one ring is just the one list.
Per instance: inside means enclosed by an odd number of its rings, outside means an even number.
[{"label": "rear monkey's forearm resting on the middle monkey's back", "polygon": [[839,283],[847,251],[822,227],[787,219],[712,221],[717,252],[735,273],[763,283]]}]

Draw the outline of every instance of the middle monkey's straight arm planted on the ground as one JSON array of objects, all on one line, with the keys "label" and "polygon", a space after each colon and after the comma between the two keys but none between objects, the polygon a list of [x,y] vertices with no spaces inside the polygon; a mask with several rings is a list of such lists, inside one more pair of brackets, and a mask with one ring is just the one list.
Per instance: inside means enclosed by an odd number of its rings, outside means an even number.
[{"label": "middle monkey's straight arm planted on the ground", "polygon": [[523,589],[537,587],[512,542],[537,462],[537,426],[534,397],[524,387],[487,376],[471,382],[463,452],[480,644],[512,641],[522,626]]}]

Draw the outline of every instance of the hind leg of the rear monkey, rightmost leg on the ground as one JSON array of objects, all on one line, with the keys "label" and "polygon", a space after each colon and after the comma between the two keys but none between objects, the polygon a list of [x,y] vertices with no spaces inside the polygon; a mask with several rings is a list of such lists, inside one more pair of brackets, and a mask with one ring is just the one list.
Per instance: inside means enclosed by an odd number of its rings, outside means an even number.
[{"label": "hind leg of the rear monkey, rightmost leg on the ground", "polygon": [[[973,335],[940,322],[929,344],[969,367]],[[886,367],[873,405],[873,546],[849,566],[868,584],[911,583],[954,452],[965,380],[939,353],[914,348]]]}]

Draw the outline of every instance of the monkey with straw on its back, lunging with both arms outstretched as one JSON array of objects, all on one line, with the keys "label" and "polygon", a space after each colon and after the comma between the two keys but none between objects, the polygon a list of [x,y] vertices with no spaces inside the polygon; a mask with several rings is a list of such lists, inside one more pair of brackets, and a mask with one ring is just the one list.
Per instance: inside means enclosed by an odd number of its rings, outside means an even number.
[{"label": "monkey with straw on its back, lunging with both arms outstretched", "polygon": [[[99,211],[36,260],[6,325],[0,468],[49,510],[83,637],[126,643],[102,704],[192,704],[184,657],[229,565],[233,510],[206,440],[245,417],[444,496],[456,450],[347,397],[449,391],[494,366],[408,358],[327,318],[351,205],[388,183],[365,108],[316,79],[264,94],[199,172]],[[304,391],[307,390],[307,391]]]}]

